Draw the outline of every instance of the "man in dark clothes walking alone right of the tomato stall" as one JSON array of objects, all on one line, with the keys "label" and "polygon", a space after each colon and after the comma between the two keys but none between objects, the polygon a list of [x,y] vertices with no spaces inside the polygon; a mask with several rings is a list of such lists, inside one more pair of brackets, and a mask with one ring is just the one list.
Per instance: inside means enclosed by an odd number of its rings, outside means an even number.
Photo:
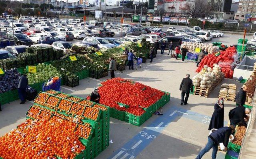
[{"label": "man in dark clothes walking alone right of the tomato stall", "polygon": [[[180,91],[181,91],[181,103],[180,105],[186,105],[188,104],[188,96],[189,96],[189,93],[190,93],[190,90],[193,91],[193,82],[192,82],[192,79],[190,79],[190,75],[187,74],[186,75],[187,77],[186,78],[183,78],[182,79],[182,82],[180,83]],[[186,97],[185,97],[185,94],[186,94]],[[185,97],[185,100],[184,100],[184,97]]]}]

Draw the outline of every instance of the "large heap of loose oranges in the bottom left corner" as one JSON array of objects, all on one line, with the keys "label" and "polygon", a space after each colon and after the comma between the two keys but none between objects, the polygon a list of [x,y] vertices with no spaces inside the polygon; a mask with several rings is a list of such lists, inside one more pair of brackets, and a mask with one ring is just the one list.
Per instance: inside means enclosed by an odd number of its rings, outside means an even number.
[{"label": "large heap of loose oranges in the bottom left corner", "polygon": [[[79,141],[90,127],[53,116],[50,121],[28,119],[0,137],[0,156],[4,159],[73,159],[86,147]],[[90,134],[90,133],[89,133]]]}]

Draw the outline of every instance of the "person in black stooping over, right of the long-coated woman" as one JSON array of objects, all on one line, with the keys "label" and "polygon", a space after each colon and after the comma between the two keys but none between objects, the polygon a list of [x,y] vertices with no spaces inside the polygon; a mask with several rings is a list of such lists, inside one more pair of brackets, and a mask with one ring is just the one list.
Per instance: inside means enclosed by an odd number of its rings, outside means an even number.
[{"label": "person in black stooping over, right of the long-coated woman", "polygon": [[235,107],[234,109],[231,109],[228,113],[230,125],[234,125],[234,127],[236,127],[238,123],[242,122],[245,126],[247,126],[244,118],[246,117],[246,114],[250,114],[250,113],[251,113],[251,109],[245,108],[244,106],[238,106],[238,107]]}]

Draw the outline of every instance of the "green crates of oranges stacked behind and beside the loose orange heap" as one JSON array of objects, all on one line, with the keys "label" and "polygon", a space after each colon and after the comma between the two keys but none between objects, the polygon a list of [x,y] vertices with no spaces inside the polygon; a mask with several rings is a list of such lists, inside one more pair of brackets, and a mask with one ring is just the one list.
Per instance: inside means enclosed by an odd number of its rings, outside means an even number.
[{"label": "green crates of oranges stacked behind and beside the loose orange heap", "polygon": [[[86,149],[74,159],[93,159],[108,147],[109,107],[54,90],[39,92],[34,102],[26,113],[27,119],[48,113],[47,120],[58,116],[76,123],[75,133]],[[87,131],[83,133],[83,129]]]}]

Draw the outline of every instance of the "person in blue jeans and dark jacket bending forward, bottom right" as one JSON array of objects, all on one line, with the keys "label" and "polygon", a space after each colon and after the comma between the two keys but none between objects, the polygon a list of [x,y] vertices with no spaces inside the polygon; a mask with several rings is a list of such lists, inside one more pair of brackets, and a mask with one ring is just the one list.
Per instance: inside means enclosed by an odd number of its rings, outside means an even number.
[{"label": "person in blue jeans and dark jacket bending forward, bottom right", "polygon": [[220,129],[213,131],[208,136],[206,146],[200,151],[196,159],[201,159],[205,153],[210,151],[210,149],[212,149],[212,159],[216,159],[219,143],[223,143],[225,146],[224,151],[227,151],[228,139],[234,131],[235,128],[233,125],[230,125],[229,127],[221,127]]}]

